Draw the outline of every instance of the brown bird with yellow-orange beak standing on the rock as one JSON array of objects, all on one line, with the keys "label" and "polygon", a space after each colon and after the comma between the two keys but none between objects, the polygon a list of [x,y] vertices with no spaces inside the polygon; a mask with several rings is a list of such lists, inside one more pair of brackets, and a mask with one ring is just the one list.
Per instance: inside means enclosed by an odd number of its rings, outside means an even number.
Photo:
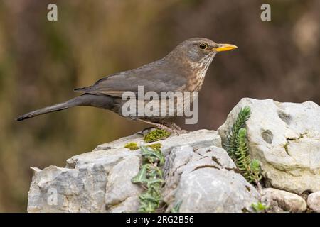
[{"label": "brown bird with yellow-orange beak standing on the rock", "polygon": [[[207,38],[190,38],[180,43],[161,60],[151,62],[134,70],[119,72],[104,77],[90,87],[75,89],[83,94],[60,104],[32,111],[17,118],[22,121],[41,114],[68,109],[73,106],[94,106],[108,109],[123,116],[122,94],[127,91],[137,94],[138,86],[144,93],[198,92],[210,63],[217,52],[233,50],[235,45],[218,44]],[[130,116],[132,120],[149,123],[172,131],[179,129],[174,123],[165,123],[165,117]]]}]

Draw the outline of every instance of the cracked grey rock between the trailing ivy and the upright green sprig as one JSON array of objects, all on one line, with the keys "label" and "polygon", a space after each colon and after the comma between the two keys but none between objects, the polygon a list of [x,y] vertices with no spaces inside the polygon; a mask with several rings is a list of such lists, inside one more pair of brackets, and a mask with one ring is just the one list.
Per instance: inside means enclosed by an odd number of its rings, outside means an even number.
[{"label": "cracked grey rock between the trailing ivy and the upright green sprig", "polygon": [[164,201],[180,212],[242,212],[260,198],[222,148],[174,148],[167,157]]}]

